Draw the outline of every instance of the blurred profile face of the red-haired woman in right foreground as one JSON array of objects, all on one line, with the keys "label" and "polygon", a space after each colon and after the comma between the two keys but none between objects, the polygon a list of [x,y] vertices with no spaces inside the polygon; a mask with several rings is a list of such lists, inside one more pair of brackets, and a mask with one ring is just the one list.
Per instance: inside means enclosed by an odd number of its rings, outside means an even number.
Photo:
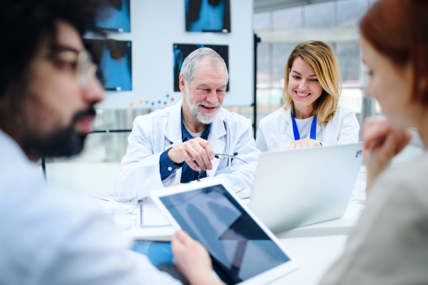
[{"label": "blurred profile face of the red-haired woman in right foreground", "polygon": [[413,69],[411,64],[396,66],[380,54],[364,37],[361,39],[362,60],[370,71],[367,96],[374,97],[382,106],[392,129],[414,126],[419,114],[412,99]]}]

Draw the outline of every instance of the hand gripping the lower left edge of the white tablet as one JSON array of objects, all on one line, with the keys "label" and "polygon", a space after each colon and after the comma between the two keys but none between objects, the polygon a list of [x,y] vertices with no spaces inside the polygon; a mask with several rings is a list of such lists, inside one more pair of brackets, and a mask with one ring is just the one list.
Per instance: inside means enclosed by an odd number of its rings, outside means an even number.
[{"label": "hand gripping the lower left edge of the white tablet", "polygon": [[173,262],[188,279],[190,284],[223,284],[213,275],[208,251],[198,241],[192,239],[185,231],[178,230],[171,236]]}]

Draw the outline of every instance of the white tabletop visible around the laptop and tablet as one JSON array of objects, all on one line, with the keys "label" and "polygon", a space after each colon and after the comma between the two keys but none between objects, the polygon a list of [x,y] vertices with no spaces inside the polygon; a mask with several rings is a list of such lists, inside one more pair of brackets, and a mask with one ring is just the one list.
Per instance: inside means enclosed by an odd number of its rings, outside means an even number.
[{"label": "white tabletop visible around the laptop and tablet", "polygon": [[[151,203],[151,201],[139,202],[139,204]],[[271,284],[318,284],[327,269],[342,254],[347,234],[357,222],[362,209],[363,206],[350,201],[344,216],[340,219],[276,233],[275,235],[284,246],[285,253],[297,262],[299,269],[282,276]],[[137,225],[140,224],[140,215],[137,215]],[[174,229],[171,226],[143,228],[136,226],[121,232],[132,239],[168,241]]]}]

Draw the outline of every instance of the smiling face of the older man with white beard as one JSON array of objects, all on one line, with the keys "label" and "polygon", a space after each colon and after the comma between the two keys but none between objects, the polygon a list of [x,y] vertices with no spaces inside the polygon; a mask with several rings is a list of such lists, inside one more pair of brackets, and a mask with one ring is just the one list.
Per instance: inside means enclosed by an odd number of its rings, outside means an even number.
[{"label": "smiling face of the older man with white beard", "polygon": [[202,59],[189,86],[185,86],[184,77],[180,75],[180,90],[185,97],[185,115],[190,113],[201,124],[210,124],[223,105],[226,83],[225,67],[220,61],[213,66],[208,59]]}]

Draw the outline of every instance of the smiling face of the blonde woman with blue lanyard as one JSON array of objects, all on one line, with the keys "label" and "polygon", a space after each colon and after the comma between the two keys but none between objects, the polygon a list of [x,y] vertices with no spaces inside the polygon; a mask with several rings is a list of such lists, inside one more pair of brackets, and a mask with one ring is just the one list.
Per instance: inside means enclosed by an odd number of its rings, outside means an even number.
[{"label": "smiling face of the blonde woman with blue lanyard", "polygon": [[300,56],[292,63],[288,76],[288,92],[297,113],[312,113],[313,103],[322,94],[322,86],[315,71]]}]

